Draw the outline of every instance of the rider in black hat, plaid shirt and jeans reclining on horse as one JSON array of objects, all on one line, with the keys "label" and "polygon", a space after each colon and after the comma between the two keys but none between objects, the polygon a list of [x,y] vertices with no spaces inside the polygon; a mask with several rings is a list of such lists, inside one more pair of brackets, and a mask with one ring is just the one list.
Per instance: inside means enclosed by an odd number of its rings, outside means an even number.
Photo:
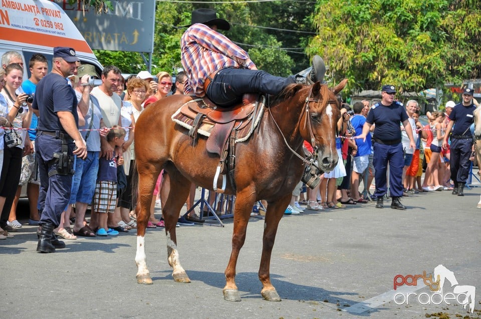
[{"label": "rider in black hat, plaid shirt and jeans reclining on horse", "polygon": [[191,24],[180,40],[182,66],[188,76],[184,94],[207,97],[220,106],[240,102],[245,93],[277,95],[288,84],[322,81],[326,68],[319,55],[312,60],[307,77],[274,76],[258,70],[249,54],[217,29],[228,30],[229,22],[212,9],[192,11]]}]

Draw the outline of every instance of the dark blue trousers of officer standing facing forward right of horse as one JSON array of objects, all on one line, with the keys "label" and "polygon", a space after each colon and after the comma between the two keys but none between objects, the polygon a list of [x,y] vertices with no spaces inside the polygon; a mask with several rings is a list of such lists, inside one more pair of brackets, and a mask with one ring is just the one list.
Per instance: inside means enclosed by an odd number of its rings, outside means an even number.
[{"label": "dark blue trousers of officer standing facing forward right of horse", "polygon": [[389,188],[391,197],[401,197],[403,194],[402,167],[404,166],[404,153],[402,143],[386,145],[374,143],[374,168],[376,174],[376,191],[374,195],[382,197],[387,192],[387,165],[389,164]]}]

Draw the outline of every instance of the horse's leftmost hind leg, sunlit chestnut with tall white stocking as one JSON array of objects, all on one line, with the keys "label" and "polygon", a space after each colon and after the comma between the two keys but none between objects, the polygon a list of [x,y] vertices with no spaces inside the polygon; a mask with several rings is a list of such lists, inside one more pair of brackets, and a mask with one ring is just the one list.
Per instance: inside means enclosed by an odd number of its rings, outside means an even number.
[{"label": "horse's leftmost hind leg, sunlit chestnut with tall white stocking", "polygon": [[137,283],[152,284],[145,255],[145,228],[149,221],[150,203],[159,172],[160,169],[151,173],[139,173],[138,199],[135,208],[137,216],[137,253],[135,254],[135,263],[138,269]]}]

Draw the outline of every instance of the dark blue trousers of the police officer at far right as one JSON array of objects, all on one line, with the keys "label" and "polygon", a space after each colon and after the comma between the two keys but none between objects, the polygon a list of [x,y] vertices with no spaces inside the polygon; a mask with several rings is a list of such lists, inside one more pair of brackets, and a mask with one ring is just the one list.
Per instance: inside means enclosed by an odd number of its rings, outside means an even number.
[{"label": "dark blue trousers of the police officer at far right", "polygon": [[451,139],[451,156],[449,164],[451,180],[465,183],[469,177],[469,155],[471,154],[471,139]]}]

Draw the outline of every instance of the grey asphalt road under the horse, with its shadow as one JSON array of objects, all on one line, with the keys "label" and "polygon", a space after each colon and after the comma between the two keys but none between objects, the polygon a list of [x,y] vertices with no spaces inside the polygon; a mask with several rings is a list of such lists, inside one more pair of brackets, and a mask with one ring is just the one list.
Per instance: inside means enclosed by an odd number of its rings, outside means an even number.
[{"label": "grey asphalt road under the horse, with its shadow", "polygon": [[[223,219],[224,227],[177,228],[180,260],[192,280],[188,284],[173,281],[160,228],[147,232],[153,284],[141,285],[135,279],[134,232],[66,240],[66,249],[40,254],[35,227],[24,225],[15,238],[0,241],[0,318],[424,318],[439,312],[478,318],[480,189],[466,190],[464,197],[450,191],[404,197],[405,211],[389,205],[376,209],[371,202],[285,215],[271,262],[281,302],[260,295],[262,219],[251,218],[237,263],[241,302],[222,296],[232,218]],[[455,300],[433,304],[438,300],[429,299],[422,279],[393,291],[396,275],[402,282],[423,270],[432,273],[439,264],[453,272],[459,287],[477,288],[474,313]],[[443,289],[453,291],[448,281]],[[408,292],[406,304],[402,297]],[[402,293],[399,304],[395,293]]]}]

